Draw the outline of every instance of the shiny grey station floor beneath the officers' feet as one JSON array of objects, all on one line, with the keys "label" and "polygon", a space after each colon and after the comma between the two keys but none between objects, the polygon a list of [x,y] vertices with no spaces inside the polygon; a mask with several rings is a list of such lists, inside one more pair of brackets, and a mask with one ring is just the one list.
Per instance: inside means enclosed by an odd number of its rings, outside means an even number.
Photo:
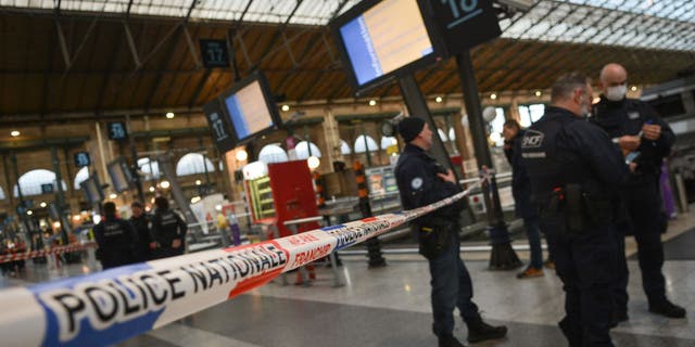
[{"label": "shiny grey station floor beneath the officers' feet", "polygon": [[[664,235],[667,295],[685,307],[687,318],[667,319],[648,312],[636,246],[628,237],[630,320],[611,331],[616,346],[695,346],[695,206],[679,215]],[[515,242],[523,245],[525,241]],[[482,245],[482,244],[481,244]],[[471,273],[475,301],[485,320],[506,324],[504,339],[475,346],[566,346],[556,323],[564,316],[561,283],[553,270],[535,279],[517,280],[516,271],[488,270],[486,252],[462,256]],[[473,245],[475,246],[475,245]],[[522,260],[528,254],[518,252]],[[191,314],[117,346],[435,346],[431,333],[429,272],[416,254],[388,255],[388,266],[368,269],[362,255],[341,256],[342,286],[333,286],[331,269],[317,266],[309,286],[276,280],[210,309]],[[17,277],[3,277],[0,287],[28,285],[88,273],[85,265],[48,270],[27,265]],[[294,272],[288,274],[294,283]],[[467,336],[457,319],[454,332]]]}]

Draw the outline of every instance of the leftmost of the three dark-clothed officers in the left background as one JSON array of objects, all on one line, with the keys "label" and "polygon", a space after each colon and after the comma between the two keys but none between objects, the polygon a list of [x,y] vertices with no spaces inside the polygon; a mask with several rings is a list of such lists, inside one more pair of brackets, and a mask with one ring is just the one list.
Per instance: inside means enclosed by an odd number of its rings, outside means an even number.
[{"label": "leftmost of the three dark-clothed officers in the left background", "polygon": [[138,234],[129,222],[116,217],[116,204],[103,206],[104,219],[94,227],[97,250],[102,268],[110,269],[137,262],[135,256]]}]

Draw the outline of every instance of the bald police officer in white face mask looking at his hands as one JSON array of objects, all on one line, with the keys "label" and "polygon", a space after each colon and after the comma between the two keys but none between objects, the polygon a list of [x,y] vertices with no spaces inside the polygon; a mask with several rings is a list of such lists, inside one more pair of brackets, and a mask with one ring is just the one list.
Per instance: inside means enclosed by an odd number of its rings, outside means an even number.
[{"label": "bald police officer in white face mask looking at his hands", "polygon": [[595,105],[594,124],[604,128],[618,144],[631,172],[621,195],[628,218],[618,226],[617,241],[621,252],[616,288],[616,323],[628,320],[628,266],[624,235],[633,233],[637,242],[642,287],[649,311],[670,318],[684,318],[685,309],[666,297],[664,246],[661,232],[666,217],[659,194],[660,167],[675,141],[675,134],[648,104],[626,98],[628,72],[619,64],[608,64],[601,72],[603,94]]}]

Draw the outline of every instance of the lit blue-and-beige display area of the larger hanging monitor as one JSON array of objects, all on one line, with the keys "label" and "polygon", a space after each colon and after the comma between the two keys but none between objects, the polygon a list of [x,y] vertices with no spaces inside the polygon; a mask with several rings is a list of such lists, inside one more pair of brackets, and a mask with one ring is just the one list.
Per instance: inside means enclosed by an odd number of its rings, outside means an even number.
[{"label": "lit blue-and-beige display area of the larger hanging monitor", "polygon": [[362,86],[433,52],[417,1],[387,0],[340,27]]}]

